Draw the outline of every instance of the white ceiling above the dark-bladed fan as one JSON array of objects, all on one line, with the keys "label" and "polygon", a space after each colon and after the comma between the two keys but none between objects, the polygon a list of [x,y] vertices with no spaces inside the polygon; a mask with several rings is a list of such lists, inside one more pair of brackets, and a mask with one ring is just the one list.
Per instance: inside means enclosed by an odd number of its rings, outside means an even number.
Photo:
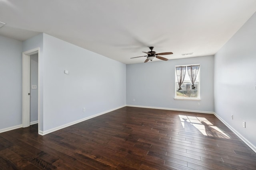
[{"label": "white ceiling above the dark-bladed fan", "polygon": [[143,63],[146,57],[130,58],[150,46],[173,52],[168,59],[214,55],[254,12],[256,0],[0,0],[0,35],[24,41],[44,32]]}]

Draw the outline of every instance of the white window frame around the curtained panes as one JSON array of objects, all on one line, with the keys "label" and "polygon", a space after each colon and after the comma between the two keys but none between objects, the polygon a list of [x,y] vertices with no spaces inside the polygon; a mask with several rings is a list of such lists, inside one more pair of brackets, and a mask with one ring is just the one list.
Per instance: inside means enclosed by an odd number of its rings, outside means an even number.
[{"label": "white window frame around the curtained panes", "polygon": [[[186,74],[188,74],[188,67],[187,66],[191,66],[191,65],[200,65],[200,64],[188,64],[188,65],[178,65],[178,66],[186,66]],[[198,97],[197,98],[191,98],[191,97],[179,97],[177,96],[177,84],[178,84],[178,80],[177,80],[177,75],[176,75],[176,67],[177,66],[174,66],[174,75],[175,75],[175,80],[174,80],[174,100],[194,100],[194,101],[200,101],[201,98],[200,98],[200,70],[201,70],[201,65],[199,67],[199,70],[198,70],[198,74],[197,74],[197,79],[198,81],[196,81],[198,83],[198,86],[197,86],[197,90],[198,90]],[[184,80],[183,83],[186,83],[186,82],[190,82],[191,84],[191,81],[189,80]],[[182,83],[182,84],[183,84]],[[191,84],[192,85],[192,84]],[[191,86],[190,85],[190,86]],[[190,89],[191,90],[191,89]]]}]

